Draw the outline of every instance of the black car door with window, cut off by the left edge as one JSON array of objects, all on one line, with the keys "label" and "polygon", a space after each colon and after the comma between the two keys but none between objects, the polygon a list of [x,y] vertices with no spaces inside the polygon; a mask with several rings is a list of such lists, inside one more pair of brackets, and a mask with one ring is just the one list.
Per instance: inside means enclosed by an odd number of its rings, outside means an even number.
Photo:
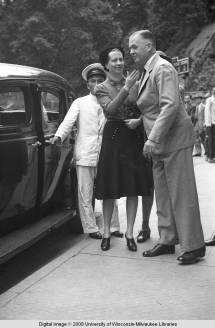
[{"label": "black car door with window, cut off by the left edge", "polygon": [[30,83],[0,81],[0,223],[5,227],[36,206],[38,142]]}]

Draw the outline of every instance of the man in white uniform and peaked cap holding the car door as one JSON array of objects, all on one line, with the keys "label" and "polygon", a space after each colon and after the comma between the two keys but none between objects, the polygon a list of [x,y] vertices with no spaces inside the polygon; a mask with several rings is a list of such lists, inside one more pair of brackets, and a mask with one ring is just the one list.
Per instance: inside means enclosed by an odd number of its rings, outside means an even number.
[{"label": "man in white uniform and peaked cap holding the car door", "polygon": [[[101,64],[94,63],[82,71],[82,77],[87,82],[90,93],[77,98],[71,105],[63,122],[59,126],[52,143],[61,144],[69,135],[77,122],[77,137],[74,149],[74,160],[78,180],[78,205],[84,233],[94,239],[102,235],[96,225],[92,206],[96,166],[101,147],[102,131],[105,122],[102,108],[97,102],[94,88],[105,80],[106,74]],[[122,237],[119,229],[118,207],[114,207],[112,217],[112,234]]]}]

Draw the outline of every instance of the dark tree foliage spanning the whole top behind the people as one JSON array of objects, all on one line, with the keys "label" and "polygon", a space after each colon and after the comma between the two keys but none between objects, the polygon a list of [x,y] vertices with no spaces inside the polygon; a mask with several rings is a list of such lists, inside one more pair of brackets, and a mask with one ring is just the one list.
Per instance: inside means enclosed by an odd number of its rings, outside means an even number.
[{"label": "dark tree foliage spanning the whole top behind the people", "polygon": [[215,0],[0,0],[0,61],[55,71],[80,93],[82,69],[104,47],[150,28],[159,49],[183,54],[214,9]]}]

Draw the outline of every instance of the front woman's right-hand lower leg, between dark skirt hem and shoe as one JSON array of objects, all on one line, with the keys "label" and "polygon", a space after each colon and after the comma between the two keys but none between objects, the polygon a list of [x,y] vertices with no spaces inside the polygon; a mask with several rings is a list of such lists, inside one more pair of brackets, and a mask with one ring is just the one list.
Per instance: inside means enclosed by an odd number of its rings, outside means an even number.
[{"label": "front woman's right-hand lower leg, between dark skirt hem and shoe", "polygon": [[127,238],[133,238],[134,221],[137,214],[138,196],[127,197],[126,212],[127,212]]}]

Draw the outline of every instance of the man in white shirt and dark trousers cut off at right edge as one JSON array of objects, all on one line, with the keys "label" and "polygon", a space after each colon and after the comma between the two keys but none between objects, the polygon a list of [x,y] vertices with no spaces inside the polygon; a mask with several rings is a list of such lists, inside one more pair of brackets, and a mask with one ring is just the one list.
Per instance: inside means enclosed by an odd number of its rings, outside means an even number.
[{"label": "man in white shirt and dark trousers cut off at right edge", "polygon": [[207,161],[215,163],[215,87],[205,104],[205,125],[207,138]]}]

